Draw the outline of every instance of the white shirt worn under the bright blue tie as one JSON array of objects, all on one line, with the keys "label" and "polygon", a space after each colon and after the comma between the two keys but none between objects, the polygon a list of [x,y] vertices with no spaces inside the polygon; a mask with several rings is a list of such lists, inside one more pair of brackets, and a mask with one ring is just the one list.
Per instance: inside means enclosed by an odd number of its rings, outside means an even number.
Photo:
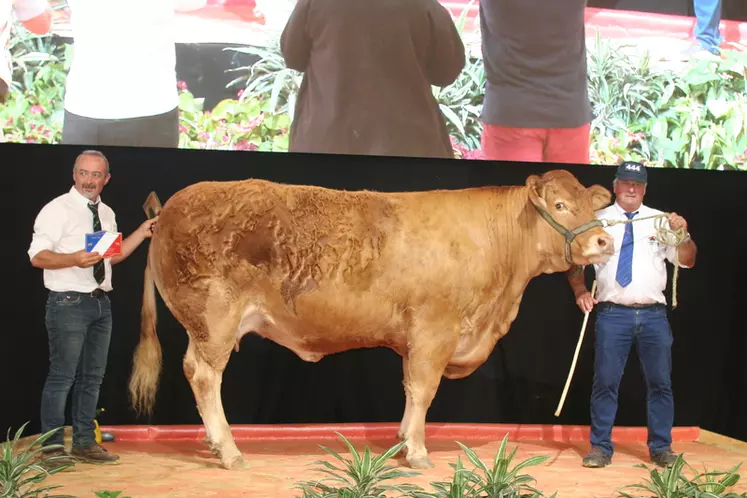
[{"label": "white shirt worn under the bright blue tie", "polygon": [[[625,306],[634,304],[666,304],[664,290],[667,287],[666,261],[674,264],[674,246],[660,244],[656,240],[656,220],[654,218],[635,221],[638,218],[662,214],[662,211],[641,204],[638,214],[633,217],[633,281],[623,288],[617,283],[617,262],[620,247],[625,235],[626,223],[607,227],[605,230],[615,240],[615,254],[606,264],[594,265],[597,278],[596,299]],[[598,219],[627,220],[625,210],[617,202],[595,213]],[[664,227],[669,229],[669,222]],[[682,263],[681,268],[687,268]]]}]

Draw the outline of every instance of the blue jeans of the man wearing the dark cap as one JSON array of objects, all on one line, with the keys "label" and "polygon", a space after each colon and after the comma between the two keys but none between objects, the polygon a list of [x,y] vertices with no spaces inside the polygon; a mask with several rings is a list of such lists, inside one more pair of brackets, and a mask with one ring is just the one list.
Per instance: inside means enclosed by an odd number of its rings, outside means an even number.
[{"label": "blue jeans of the man wearing the dark cap", "polygon": [[663,305],[634,309],[600,303],[596,318],[594,383],[591,393],[591,445],[612,456],[617,392],[630,348],[635,343],[647,386],[648,448],[651,455],[671,450],[674,423],[672,331]]}]

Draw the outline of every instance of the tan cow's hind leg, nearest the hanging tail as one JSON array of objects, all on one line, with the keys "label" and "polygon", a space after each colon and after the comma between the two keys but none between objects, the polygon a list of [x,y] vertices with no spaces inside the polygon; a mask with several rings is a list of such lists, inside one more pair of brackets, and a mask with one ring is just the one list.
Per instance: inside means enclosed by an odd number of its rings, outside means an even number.
[{"label": "tan cow's hind leg, nearest the hanging tail", "polygon": [[[244,466],[244,459],[231,434],[220,393],[223,371],[232,346],[232,343],[226,346],[208,342],[201,343],[198,348],[195,340],[190,338],[184,357],[184,374],[192,387],[197,410],[205,424],[210,449],[220,458],[224,468],[235,470]],[[210,361],[205,359],[205,353]]]}]

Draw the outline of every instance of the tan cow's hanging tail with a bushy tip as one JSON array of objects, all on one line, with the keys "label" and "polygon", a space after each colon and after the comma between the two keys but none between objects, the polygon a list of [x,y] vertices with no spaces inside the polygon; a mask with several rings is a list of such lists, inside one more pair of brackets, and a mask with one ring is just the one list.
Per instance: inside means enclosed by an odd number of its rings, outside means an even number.
[{"label": "tan cow's hanging tail with a bushy tip", "polygon": [[156,289],[151,271],[149,261],[145,267],[140,342],[132,359],[130,376],[130,401],[138,415],[153,412],[161,375],[161,343],[156,335]]}]

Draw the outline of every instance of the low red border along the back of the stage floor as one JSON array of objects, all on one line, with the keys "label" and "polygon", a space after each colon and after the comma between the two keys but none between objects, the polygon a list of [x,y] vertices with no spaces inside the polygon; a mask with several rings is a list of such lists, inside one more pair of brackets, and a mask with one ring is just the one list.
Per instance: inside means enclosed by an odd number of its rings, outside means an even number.
[{"label": "low red border along the back of the stage floor", "polygon": [[[293,424],[293,425],[232,425],[237,441],[333,440],[339,432],[350,440],[394,439],[399,424]],[[117,441],[196,441],[205,437],[201,425],[162,426],[102,426],[101,430],[114,435]],[[585,442],[589,427],[581,425],[531,424],[426,424],[426,438],[442,441],[475,441],[501,439],[506,433],[511,441]],[[700,436],[699,427],[675,427],[674,442],[694,442]],[[646,442],[645,427],[615,427],[612,440],[616,443]]]}]

